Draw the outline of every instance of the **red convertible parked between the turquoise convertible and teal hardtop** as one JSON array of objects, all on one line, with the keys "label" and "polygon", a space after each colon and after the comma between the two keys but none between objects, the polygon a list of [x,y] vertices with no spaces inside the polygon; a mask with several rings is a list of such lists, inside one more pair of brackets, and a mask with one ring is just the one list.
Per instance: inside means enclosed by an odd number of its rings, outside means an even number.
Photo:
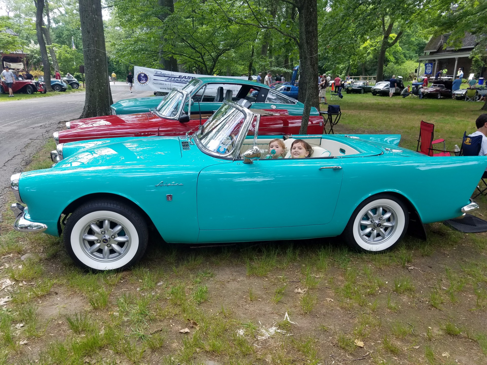
[{"label": "red convertible parked between the turquoise convertible and teal hardtop", "polygon": [[[82,140],[115,137],[180,136],[200,124],[214,113],[200,113],[197,103],[189,103],[190,94],[172,90],[157,108],[147,113],[108,115],[67,122],[68,129],[54,132],[56,145]],[[250,102],[241,99],[248,107]],[[248,104],[248,105],[245,105]],[[196,110],[194,110],[196,109]],[[216,110],[215,110],[216,111]],[[301,116],[288,115],[287,110],[252,110],[261,114],[260,134],[299,134]],[[309,117],[308,134],[323,134],[323,118]]]}]

